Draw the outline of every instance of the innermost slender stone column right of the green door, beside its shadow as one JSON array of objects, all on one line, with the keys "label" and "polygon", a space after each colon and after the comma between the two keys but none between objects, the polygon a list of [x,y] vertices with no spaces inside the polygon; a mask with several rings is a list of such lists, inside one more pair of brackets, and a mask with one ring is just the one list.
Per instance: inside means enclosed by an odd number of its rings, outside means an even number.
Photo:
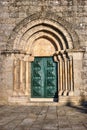
[{"label": "innermost slender stone column right of the green door, beside its shadow", "polygon": [[62,95],[63,93],[63,60],[60,55],[58,55],[59,59],[59,96]]}]

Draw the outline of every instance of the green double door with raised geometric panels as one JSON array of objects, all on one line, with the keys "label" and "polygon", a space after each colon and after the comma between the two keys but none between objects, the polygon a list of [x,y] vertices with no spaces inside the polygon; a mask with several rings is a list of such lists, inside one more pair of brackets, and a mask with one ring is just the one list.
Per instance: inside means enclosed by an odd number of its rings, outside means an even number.
[{"label": "green double door with raised geometric panels", "polygon": [[57,64],[52,57],[36,57],[31,63],[31,97],[53,98],[57,93]]}]

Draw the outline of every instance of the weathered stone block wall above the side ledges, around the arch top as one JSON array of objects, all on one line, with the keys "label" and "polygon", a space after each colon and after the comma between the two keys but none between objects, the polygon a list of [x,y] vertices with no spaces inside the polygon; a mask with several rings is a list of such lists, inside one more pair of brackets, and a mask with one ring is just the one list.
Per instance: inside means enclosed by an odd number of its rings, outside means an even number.
[{"label": "weathered stone block wall above the side ledges, around the arch top", "polygon": [[70,22],[79,35],[81,46],[86,46],[86,0],[0,0],[0,49],[5,49],[12,29],[35,12],[51,10]]}]

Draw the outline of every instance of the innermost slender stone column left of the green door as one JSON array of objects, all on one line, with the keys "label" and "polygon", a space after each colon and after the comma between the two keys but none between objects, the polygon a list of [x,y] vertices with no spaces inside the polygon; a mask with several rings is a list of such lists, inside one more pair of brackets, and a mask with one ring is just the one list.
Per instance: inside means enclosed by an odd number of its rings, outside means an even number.
[{"label": "innermost slender stone column left of the green door", "polygon": [[29,62],[26,61],[26,89],[25,95],[29,95]]}]

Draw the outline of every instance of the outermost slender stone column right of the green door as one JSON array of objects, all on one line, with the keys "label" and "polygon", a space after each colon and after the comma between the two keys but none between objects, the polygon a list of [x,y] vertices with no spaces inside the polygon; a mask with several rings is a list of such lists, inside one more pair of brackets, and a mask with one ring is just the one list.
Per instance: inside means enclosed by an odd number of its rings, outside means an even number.
[{"label": "outermost slender stone column right of the green door", "polygon": [[69,95],[73,96],[74,86],[73,86],[73,57],[70,56],[70,92]]}]

